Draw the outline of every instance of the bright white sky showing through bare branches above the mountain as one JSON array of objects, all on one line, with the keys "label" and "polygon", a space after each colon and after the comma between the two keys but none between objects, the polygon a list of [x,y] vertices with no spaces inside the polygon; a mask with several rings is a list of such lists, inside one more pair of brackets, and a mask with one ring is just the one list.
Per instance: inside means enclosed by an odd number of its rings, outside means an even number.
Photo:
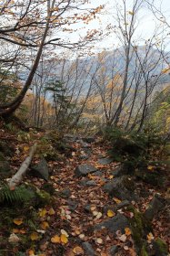
[{"label": "bright white sky showing through bare branches above the mountain", "polygon": [[[152,0],[148,0],[152,1]],[[97,5],[105,5],[105,11],[103,11],[103,14],[96,17],[87,27],[78,25],[76,28],[77,30],[77,37],[83,37],[85,34],[85,31],[88,29],[98,29],[98,30],[104,30],[104,33],[106,32],[105,27],[107,27],[109,24],[112,26],[115,25],[115,8],[116,8],[116,2],[120,4],[122,0],[91,0],[89,1],[88,6],[95,7]],[[127,3],[127,12],[132,10],[132,3],[133,0],[126,0]],[[168,21],[170,25],[170,0],[155,0],[155,5],[157,8],[162,9],[164,15],[166,16],[166,20]],[[159,16],[160,17],[160,16]],[[139,11],[138,16],[138,27],[135,31],[135,39],[138,39],[139,44],[144,44],[144,39],[149,39],[149,37],[152,37],[155,26],[158,26],[161,32],[161,24],[163,23],[158,22],[155,19],[155,16],[153,16],[152,12],[149,11],[146,7],[143,7]],[[170,32],[170,27],[167,30]],[[72,35],[69,36],[72,39]],[[75,39],[75,36],[74,36]],[[170,38],[168,38],[170,39]],[[168,42],[167,39],[167,42]],[[167,44],[166,42],[166,44]],[[108,37],[105,37],[103,41],[95,42],[94,47],[95,51],[101,51],[102,49],[112,49],[116,48],[116,45],[118,44],[117,37],[115,37],[115,34],[111,33]],[[170,50],[170,46],[167,46],[167,49]]]}]

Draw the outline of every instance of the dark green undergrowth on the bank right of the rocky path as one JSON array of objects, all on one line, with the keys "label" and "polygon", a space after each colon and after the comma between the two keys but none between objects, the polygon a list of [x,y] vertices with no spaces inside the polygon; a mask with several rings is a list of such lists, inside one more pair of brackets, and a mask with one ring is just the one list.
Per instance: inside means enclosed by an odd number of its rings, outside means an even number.
[{"label": "dark green undergrowth on the bank right of the rocky path", "polygon": [[164,184],[165,142],[158,131],[148,128],[142,133],[127,133],[118,128],[107,128],[104,136],[111,144],[109,155],[115,162],[122,163],[128,174],[154,186]]}]

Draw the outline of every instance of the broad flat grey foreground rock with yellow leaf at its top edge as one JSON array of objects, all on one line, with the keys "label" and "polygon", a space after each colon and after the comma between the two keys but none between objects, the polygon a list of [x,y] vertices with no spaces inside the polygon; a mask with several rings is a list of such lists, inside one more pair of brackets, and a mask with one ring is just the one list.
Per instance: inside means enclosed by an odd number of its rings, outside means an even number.
[{"label": "broad flat grey foreground rock with yellow leaf at its top edge", "polygon": [[97,224],[95,229],[102,229],[102,227],[105,227],[105,229],[108,229],[112,233],[115,233],[117,230],[121,230],[121,232],[124,233],[125,228],[129,227],[129,222],[124,215],[118,213],[112,219]]}]

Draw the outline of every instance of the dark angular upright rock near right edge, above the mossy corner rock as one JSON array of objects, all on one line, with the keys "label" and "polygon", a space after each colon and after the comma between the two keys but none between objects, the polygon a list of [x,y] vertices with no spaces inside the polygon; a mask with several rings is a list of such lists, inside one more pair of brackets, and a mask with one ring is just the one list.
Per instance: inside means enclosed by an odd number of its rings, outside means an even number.
[{"label": "dark angular upright rock near right edge, above the mossy corner rock", "polygon": [[155,214],[157,214],[158,211],[164,207],[165,199],[162,198],[159,194],[155,194],[148,208],[145,210],[145,218],[152,220],[155,217]]}]

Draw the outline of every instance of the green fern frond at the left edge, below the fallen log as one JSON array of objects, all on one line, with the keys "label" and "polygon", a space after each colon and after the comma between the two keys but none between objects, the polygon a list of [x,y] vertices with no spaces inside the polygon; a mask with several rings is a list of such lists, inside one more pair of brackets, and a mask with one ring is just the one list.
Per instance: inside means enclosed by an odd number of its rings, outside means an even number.
[{"label": "green fern frond at the left edge, below the fallen log", "polygon": [[24,185],[15,187],[15,190],[10,190],[6,184],[0,185],[0,203],[25,203],[33,197],[35,197],[34,192]]}]

